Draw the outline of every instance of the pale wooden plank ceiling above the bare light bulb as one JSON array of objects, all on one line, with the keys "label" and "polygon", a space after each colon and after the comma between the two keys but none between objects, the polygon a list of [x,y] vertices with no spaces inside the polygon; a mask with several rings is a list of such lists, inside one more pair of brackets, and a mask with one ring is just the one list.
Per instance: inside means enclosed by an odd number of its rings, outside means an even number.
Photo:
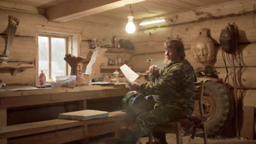
[{"label": "pale wooden plank ceiling above the bare light bulb", "polygon": [[[74,0],[0,0],[5,2],[29,5],[31,7],[36,7],[40,9],[54,9],[59,5],[71,5],[71,3],[75,2]],[[120,0],[77,0],[77,2],[84,2],[82,7],[87,7],[88,3],[91,5],[95,5],[95,7],[99,7],[98,3],[106,2],[109,3],[117,2]],[[123,0],[126,1],[126,0]],[[133,1],[133,2],[132,2]],[[130,0],[124,3],[125,6],[119,5],[115,7],[104,7],[104,10],[101,10],[100,13],[94,11],[94,13],[89,13],[86,16],[79,15],[76,16],[75,19],[85,20],[85,21],[96,21],[96,22],[103,22],[103,23],[112,23],[113,25],[124,25],[127,22],[127,14],[130,11],[129,2],[131,2],[131,8],[133,10],[133,15],[135,16],[135,20],[143,20],[148,19],[150,17],[155,16],[164,16],[167,14],[177,13],[179,11],[199,8],[207,5],[224,3],[234,0]],[[97,3],[98,2],[98,3]],[[96,4],[92,4],[96,3]],[[78,6],[81,6],[78,5]],[[103,4],[104,5],[104,4]],[[101,5],[100,5],[101,6]],[[121,6],[121,7],[120,7]],[[92,6],[94,7],[94,6]],[[63,7],[63,12],[67,11],[68,9],[72,9],[71,7]],[[99,7],[100,8],[100,7]],[[74,9],[74,8],[73,8]],[[89,8],[90,9],[90,8]],[[96,9],[98,10],[98,9]],[[58,9],[58,11],[61,11]],[[56,11],[55,11],[56,13]],[[72,16],[71,16],[72,17]],[[69,19],[68,19],[69,20]]]}]

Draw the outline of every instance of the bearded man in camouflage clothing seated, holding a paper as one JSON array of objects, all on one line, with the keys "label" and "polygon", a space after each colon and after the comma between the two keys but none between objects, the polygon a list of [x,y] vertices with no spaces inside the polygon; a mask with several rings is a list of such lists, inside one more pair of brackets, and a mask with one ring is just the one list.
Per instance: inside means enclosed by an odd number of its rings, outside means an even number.
[{"label": "bearded man in camouflage clothing seated, holding a paper", "polygon": [[[135,144],[150,129],[164,122],[188,118],[194,110],[192,99],[195,91],[196,77],[191,64],[185,59],[184,46],[181,41],[168,40],[164,44],[165,67],[149,67],[155,82],[128,83],[132,91],[153,95],[155,109],[142,112],[135,121],[123,131],[119,143]],[[155,144],[167,144],[165,133],[154,131]]]}]

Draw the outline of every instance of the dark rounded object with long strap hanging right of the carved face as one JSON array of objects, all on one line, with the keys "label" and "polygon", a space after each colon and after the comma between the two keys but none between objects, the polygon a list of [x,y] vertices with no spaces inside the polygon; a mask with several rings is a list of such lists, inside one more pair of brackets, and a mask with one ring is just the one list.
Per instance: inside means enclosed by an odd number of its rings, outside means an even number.
[{"label": "dark rounded object with long strap hanging right of the carved face", "polygon": [[240,139],[239,134],[239,127],[238,127],[238,105],[240,104],[240,99],[237,98],[237,85],[236,85],[236,68],[235,68],[235,55],[237,50],[237,39],[238,34],[236,31],[235,25],[230,25],[228,23],[228,26],[225,27],[225,29],[222,29],[222,32],[220,32],[220,44],[222,45],[222,49],[224,52],[229,53],[232,55],[232,69],[233,69],[233,83],[234,83],[234,95],[235,95],[235,119],[236,119],[236,137],[237,139]]}]

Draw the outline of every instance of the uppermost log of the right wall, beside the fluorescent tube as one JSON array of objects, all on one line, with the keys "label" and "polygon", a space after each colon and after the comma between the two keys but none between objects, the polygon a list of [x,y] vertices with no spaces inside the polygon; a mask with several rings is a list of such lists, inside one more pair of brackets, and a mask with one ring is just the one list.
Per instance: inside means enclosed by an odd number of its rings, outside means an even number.
[{"label": "uppermost log of the right wall, beside the fluorescent tube", "polygon": [[[218,20],[225,17],[239,16],[246,13],[253,13],[254,9],[252,5],[255,5],[256,1],[247,0],[237,0],[225,3],[219,3],[214,5],[209,5],[206,7],[195,8],[191,10],[185,10],[178,13],[162,15],[161,17],[166,17],[167,22],[157,23],[155,25],[141,26],[140,30],[145,31],[148,29],[173,27],[178,25],[185,25],[188,23],[196,23],[207,20]],[[149,19],[139,20],[138,22],[157,19],[156,17],[151,17]]]}]

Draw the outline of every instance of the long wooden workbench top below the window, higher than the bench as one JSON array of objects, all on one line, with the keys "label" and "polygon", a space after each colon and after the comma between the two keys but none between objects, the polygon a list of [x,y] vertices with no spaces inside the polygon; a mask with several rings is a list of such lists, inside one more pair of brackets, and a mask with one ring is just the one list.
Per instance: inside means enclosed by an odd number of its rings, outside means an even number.
[{"label": "long wooden workbench top below the window, higher than the bench", "polygon": [[79,101],[80,110],[84,110],[86,109],[86,100],[120,97],[129,91],[126,85],[0,91],[0,127],[7,126],[7,109],[11,107]]}]

